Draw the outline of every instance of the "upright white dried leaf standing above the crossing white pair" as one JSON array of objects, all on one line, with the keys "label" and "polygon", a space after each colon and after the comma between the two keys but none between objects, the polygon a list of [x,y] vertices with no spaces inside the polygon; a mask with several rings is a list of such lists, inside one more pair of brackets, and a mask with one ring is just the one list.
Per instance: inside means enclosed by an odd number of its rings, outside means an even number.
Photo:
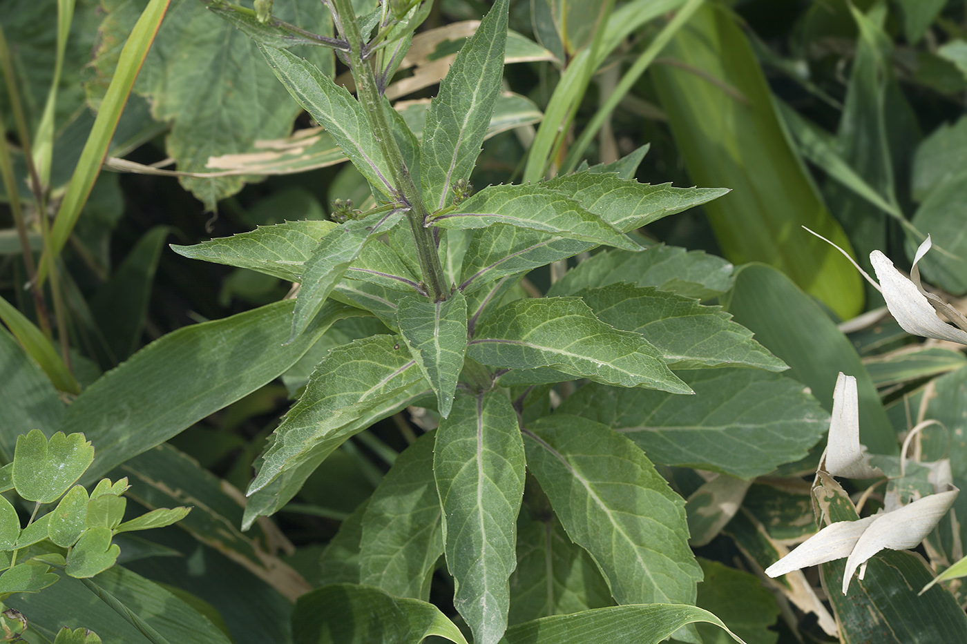
[{"label": "upright white dried leaf standing above the crossing white pair", "polygon": [[856,378],[842,371],[833,390],[833,418],[824,456],[825,467],[820,468],[835,477],[872,479],[883,473],[869,465],[869,456],[860,445],[860,397]]}]

